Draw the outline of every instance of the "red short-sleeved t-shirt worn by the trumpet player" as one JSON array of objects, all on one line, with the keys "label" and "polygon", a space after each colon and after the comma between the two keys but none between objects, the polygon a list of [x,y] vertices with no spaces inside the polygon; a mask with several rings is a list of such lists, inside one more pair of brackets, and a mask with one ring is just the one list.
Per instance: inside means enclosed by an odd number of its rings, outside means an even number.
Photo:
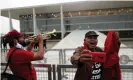
[{"label": "red short-sleeved t-shirt worn by the trumpet player", "polygon": [[[10,56],[14,49],[15,48],[11,48],[9,50],[9,52],[7,53],[7,57]],[[31,61],[33,61],[33,56],[33,52],[29,52],[23,49],[17,49],[11,57],[11,64],[9,64],[11,71],[16,75],[25,78],[26,80],[32,80],[32,76],[34,80],[37,80],[35,68],[31,64]],[[31,73],[29,69],[29,64],[31,65]]]}]

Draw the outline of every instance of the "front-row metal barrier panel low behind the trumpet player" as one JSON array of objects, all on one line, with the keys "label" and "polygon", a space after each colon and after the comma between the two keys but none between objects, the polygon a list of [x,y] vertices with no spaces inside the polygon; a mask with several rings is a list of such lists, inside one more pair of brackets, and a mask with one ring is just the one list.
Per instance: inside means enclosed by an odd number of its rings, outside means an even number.
[{"label": "front-row metal barrier panel low behind the trumpet player", "polygon": [[[6,63],[1,63],[1,71],[5,69]],[[51,64],[33,64],[37,74],[37,80],[52,80],[52,67]],[[7,72],[12,73],[8,68]]]}]

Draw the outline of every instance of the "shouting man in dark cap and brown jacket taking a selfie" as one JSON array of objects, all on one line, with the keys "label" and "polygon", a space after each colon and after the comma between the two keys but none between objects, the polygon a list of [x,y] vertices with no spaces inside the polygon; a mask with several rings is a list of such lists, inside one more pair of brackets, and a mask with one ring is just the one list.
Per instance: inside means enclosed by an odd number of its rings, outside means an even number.
[{"label": "shouting man in dark cap and brown jacket taking a selfie", "polygon": [[[77,66],[74,80],[121,80],[120,68],[118,65],[119,60],[117,59],[117,56],[107,58],[107,61],[105,61],[106,63],[104,64],[100,62],[92,62],[93,56],[84,54],[85,52],[104,52],[106,50],[109,51],[110,49],[115,48],[107,47],[107,49],[103,51],[101,48],[97,47],[98,36],[99,35],[94,31],[87,32],[85,34],[84,46],[76,48],[73,56],[71,57],[71,63]],[[113,44],[113,42],[108,41],[111,38],[114,39],[114,36],[109,35],[107,37],[105,47],[109,46],[107,43],[110,43],[110,45]],[[114,42],[116,42],[113,46],[120,46],[118,43],[119,41],[117,42],[118,38],[119,37],[117,37],[116,40],[113,40]],[[118,50],[119,49],[117,48],[116,51],[118,52]],[[112,53],[106,54],[111,54],[112,56],[114,56]],[[113,60],[114,62],[112,62],[111,60]]]}]

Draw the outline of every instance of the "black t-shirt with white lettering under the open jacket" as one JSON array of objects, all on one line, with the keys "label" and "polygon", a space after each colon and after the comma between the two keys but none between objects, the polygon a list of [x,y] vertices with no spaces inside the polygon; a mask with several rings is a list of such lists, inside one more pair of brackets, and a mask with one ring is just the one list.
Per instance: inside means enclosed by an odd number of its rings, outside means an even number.
[{"label": "black t-shirt with white lettering under the open jacket", "polygon": [[96,62],[92,66],[91,80],[102,80],[102,64],[101,63]]}]

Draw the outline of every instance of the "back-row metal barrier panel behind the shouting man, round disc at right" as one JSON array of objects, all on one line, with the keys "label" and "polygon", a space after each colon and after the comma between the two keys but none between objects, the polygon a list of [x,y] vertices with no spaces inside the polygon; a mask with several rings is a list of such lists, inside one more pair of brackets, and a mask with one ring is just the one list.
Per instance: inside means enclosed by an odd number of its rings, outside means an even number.
[{"label": "back-row metal barrier panel behind the shouting man, round disc at right", "polygon": [[[103,49],[103,48],[102,48]],[[71,64],[70,57],[73,55],[75,49],[63,49],[63,64]],[[120,64],[133,64],[133,47],[120,47],[119,50]]]}]

